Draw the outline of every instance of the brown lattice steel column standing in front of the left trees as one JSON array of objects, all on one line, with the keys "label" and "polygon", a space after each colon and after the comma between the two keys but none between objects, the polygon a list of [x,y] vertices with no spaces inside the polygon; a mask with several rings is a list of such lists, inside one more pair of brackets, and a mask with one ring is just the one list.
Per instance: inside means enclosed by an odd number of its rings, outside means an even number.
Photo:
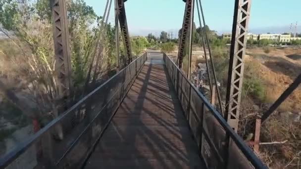
[{"label": "brown lattice steel column standing in front of the left trees", "polygon": [[50,0],[53,19],[55,70],[58,77],[59,99],[67,98],[71,90],[71,58],[65,0]]}]

